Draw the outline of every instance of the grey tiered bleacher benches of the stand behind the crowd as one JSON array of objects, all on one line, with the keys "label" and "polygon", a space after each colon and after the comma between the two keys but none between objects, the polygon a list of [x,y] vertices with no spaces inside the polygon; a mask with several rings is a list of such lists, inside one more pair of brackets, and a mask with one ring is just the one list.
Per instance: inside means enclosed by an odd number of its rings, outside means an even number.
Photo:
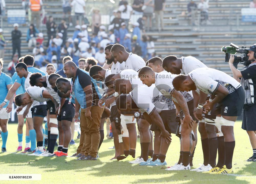
[{"label": "grey tiered bleacher benches of the stand behind the crowd", "polygon": [[[130,0],[132,1],[132,0]],[[62,3],[59,0],[44,0],[46,16],[52,15],[56,23],[62,18]],[[207,66],[225,71],[231,74],[229,66],[225,63],[225,54],[220,49],[228,46],[231,42],[238,46],[250,46],[255,40],[255,24],[241,21],[241,8],[249,7],[250,0],[210,0],[209,19],[211,25],[190,25],[189,18],[184,14],[187,11],[186,0],[166,0],[164,11],[164,31],[146,32],[156,38],[155,50],[157,55],[195,56]],[[199,1],[196,1],[198,4]],[[117,7],[118,1],[87,0],[86,10],[90,21],[92,7],[100,9],[102,14],[111,15],[112,10]],[[6,1],[6,15],[8,9],[22,9],[20,0]],[[198,13],[199,14],[199,13]],[[22,31],[22,55],[31,54],[26,42],[27,24],[20,25]],[[5,50],[5,65],[11,60],[12,44],[10,32],[12,25],[7,23],[7,16],[3,17],[3,34],[8,41]],[[47,40],[46,26],[42,25],[40,31],[44,33]],[[74,28],[68,29],[68,37],[72,37]]]}]

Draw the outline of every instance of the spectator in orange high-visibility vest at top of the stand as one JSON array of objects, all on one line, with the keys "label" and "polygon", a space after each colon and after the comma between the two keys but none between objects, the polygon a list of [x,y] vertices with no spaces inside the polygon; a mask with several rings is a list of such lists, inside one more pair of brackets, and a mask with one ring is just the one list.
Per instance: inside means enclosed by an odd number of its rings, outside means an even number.
[{"label": "spectator in orange high-visibility vest at top of the stand", "polygon": [[42,0],[29,0],[29,7],[31,10],[31,23],[35,24],[34,20],[36,19],[37,28],[40,27],[42,5]]}]

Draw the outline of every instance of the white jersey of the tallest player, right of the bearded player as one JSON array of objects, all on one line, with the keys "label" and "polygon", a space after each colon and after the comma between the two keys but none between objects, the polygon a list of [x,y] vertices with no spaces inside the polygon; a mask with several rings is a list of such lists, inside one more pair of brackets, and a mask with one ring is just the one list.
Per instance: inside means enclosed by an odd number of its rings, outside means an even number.
[{"label": "white jersey of the tallest player, right of the bearded player", "polygon": [[125,61],[125,69],[132,69],[136,72],[145,66],[146,66],[145,61],[136,54],[130,53],[129,57]]}]

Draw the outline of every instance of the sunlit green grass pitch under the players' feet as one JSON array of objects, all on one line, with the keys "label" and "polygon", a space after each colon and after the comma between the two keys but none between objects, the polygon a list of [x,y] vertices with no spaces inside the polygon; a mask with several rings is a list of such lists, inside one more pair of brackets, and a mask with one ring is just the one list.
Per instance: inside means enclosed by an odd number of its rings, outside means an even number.
[{"label": "sunlit green grass pitch under the players' feet", "polygon": [[[41,181],[1,181],[1,183],[256,183],[256,163],[245,162],[252,155],[251,145],[241,122],[235,124],[236,147],[233,156],[233,175],[209,175],[191,171],[166,171],[166,167],[147,167],[110,161],[114,155],[113,140],[104,139],[97,161],[76,161],[72,157],[36,157],[14,154],[17,142],[17,124],[8,125],[7,153],[0,154],[0,174],[41,174]],[[24,126],[25,133],[25,126]],[[77,135],[77,133],[76,133]],[[75,135],[75,137],[76,137]],[[79,140],[75,140],[76,143]],[[25,136],[23,136],[23,149]],[[2,145],[2,140],[0,140]],[[69,155],[78,144],[69,146]],[[139,139],[136,156],[140,154]],[[173,135],[166,161],[177,162],[179,139]],[[201,141],[196,147],[194,166],[202,163]]]}]

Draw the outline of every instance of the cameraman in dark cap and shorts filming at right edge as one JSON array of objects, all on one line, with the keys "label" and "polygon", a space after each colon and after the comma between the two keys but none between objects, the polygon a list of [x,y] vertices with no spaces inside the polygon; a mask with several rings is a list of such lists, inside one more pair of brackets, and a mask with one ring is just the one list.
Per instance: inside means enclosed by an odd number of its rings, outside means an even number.
[{"label": "cameraman in dark cap and shorts filming at right edge", "polygon": [[[247,56],[249,66],[244,66],[242,71],[233,65],[234,56],[230,55],[229,67],[233,72],[233,77],[241,83],[246,92],[246,101],[243,106],[242,129],[246,130],[252,145],[253,156],[247,161],[256,162],[256,44],[249,49]],[[247,64],[246,64],[247,65]]]}]

